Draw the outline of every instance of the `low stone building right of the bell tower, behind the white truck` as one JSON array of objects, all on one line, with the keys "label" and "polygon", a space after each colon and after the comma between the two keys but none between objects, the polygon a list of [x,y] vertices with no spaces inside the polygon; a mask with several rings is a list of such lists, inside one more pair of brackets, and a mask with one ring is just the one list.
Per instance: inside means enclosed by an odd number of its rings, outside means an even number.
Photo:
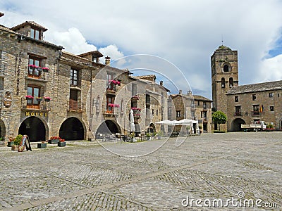
[{"label": "low stone building right of the bell tower, behind the white truck", "polygon": [[264,121],[282,129],[282,81],[233,87],[227,94],[228,131],[240,131],[240,124]]}]

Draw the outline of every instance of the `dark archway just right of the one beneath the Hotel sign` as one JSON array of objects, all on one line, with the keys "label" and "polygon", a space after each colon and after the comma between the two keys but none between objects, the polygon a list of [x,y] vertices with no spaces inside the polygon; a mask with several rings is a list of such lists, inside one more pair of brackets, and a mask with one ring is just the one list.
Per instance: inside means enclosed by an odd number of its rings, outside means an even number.
[{"label": "dark archway just right of the one beneath the Hotel sign", "polygon": [[84,129],[83,124],[75,117],[69,117],[61,124],[59,136],[66,141],[83,140]]}]

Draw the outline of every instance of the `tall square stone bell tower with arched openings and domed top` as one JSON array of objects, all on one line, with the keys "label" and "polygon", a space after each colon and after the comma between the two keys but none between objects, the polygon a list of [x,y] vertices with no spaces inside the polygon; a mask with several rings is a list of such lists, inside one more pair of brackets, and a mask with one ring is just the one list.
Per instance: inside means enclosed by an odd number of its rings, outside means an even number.
[{"label": "tall square stone bell tower with arched openings and domed top", "polygon": [[238,51],[219,46],[211,56],[211,65],[213,107],[226,114],[226,92],[233,86],[238,86]]}]

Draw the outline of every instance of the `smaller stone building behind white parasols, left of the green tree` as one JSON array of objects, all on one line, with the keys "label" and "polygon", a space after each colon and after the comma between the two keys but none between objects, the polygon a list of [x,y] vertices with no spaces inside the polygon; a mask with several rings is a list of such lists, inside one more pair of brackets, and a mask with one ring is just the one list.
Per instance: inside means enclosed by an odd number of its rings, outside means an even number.
[{"label": "smaller stone building behind white parasols, left of the green tree", "polygon": [[[168,120],[198,120],[202,132],[211,132],[212,101],[199,95],[192,95],[191,91],[183,94],[171,94],[168,98]],[[168,126],[168,132],[185,131],[184,127]],[[196,130],[194,130],[196,132]]]}]

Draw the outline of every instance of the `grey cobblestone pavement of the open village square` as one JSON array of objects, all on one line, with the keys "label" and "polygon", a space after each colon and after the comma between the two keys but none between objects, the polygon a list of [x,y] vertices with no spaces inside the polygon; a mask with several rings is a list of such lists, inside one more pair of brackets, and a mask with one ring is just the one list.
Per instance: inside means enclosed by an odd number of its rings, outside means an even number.
[{"label": "grey cobblestone pavement of the open village square", "polygon": [[[149,155],[117,155],[160,144]],[[175,145],[176,139],[104,144],[117,154],[96,141],[23,153],[1,146],[0,210],[186,210],[187,197],[225,202],[239,191],[262,207],[221,210],[282,209],[282,132],[202,134]]]}]

